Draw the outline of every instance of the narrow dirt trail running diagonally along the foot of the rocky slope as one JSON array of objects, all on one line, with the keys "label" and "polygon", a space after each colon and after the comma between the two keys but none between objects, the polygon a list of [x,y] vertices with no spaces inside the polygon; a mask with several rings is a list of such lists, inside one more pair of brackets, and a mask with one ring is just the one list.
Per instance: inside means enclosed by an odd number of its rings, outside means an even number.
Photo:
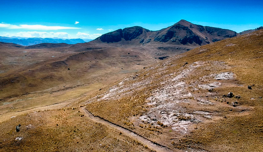
[{"label": "narrow dirt trail running diagonally along the foot of the rocky slope", "polygon": [[[173,150],[170,150],[169,148],[165,147],[165,146],[161,146],[161,145],[157,145],[154,144],[153,142],[151,142],[148,139],[145,139],[139,135],[137,135],[136,133],[129,131],[128,129],[125,129],[124,127],[120,127],[117,126],[109,121],[103,120],[102,118],[99,118],[97,116],[93,116],[89,111],[87,111],[87,109],[85,109],[85,107],[80,108],[81,112],[83,112],[86,116],[88,116],[91,120],[110,126],[114,129],[117,129],[118,131],[124,133],[125,135],[130,136],[133,139],[138,140],[140,143],[142,143],[143,145],[147,145],[148,148],[155,150],[156,152],[172,152]],[[177,150],[177,152],[183,152],[182,150]]]}]

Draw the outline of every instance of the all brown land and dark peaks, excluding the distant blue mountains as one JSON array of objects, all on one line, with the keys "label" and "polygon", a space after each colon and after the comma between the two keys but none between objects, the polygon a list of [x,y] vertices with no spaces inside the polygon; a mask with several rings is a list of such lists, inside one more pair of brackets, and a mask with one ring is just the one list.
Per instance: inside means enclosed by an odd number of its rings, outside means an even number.
[{"label": "all brown land and dark peaks, excluding the distant blue mountains", "polygon": [[247,33],[181,20],[0,42],[0,151],[260,152],[263,30]]}]

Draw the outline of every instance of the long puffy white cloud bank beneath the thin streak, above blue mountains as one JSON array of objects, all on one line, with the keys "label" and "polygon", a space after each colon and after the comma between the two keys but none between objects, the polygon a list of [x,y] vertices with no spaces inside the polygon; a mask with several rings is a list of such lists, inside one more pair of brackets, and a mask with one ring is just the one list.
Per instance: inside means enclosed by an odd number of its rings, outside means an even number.
[{"label": "long puffy white cloud bank beneath the thin streak, above blue mountains", "polygon": [[4,36],[11,37],[11,36],[20,36],[20,37],[41,37],[41,38],[52,38],[58,37],[62,39],[69,39],[71,36],[67,32],[18,32],[16,34],[9,34],[6,33]]}]

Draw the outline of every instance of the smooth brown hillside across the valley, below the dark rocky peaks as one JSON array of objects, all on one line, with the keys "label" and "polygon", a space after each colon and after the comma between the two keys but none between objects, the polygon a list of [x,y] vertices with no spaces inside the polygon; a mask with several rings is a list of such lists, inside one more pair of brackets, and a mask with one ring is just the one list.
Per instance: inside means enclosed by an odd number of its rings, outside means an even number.
[{"label": "smooth brown hillside across the valley, below the dark rocky peaks", "polygon": [[[0,74],[0,90],[2,90],[0,98],[2,99],[57,86],[57,89],[64,89],[64,86],[90,84],[100,79],[106,81],[109,75],[133,73],[157,62],[143,49],[132,48],[108,47],[83,51],[69,47],[23,51],[24,49],[19,53],[16,51],[15,57],[3,58],[3,60],[9,60],[9,63],[6,61],[8,63],[6,70],[3,69]],[[39,54],[41,52],[42,54]],[[16,59],[16,62],[12,63],[11,59]],[[10,90],[13,91],[10,92]]]}]

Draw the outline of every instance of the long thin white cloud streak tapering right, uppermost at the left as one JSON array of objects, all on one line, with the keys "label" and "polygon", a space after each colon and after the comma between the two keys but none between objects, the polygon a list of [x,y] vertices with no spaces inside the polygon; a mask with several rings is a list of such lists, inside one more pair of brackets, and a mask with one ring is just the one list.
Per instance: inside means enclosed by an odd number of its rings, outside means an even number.
[{"label": "long thin white cloud streak tapering right, uppermost at the left", "polygon": [[65,26],[12,25],[12,24],[2,24],[2,23],[0,23],[0,28],[7,28],[7,29],[29,29],[29,30],[80,29],[80,28],[65,27]]}]

